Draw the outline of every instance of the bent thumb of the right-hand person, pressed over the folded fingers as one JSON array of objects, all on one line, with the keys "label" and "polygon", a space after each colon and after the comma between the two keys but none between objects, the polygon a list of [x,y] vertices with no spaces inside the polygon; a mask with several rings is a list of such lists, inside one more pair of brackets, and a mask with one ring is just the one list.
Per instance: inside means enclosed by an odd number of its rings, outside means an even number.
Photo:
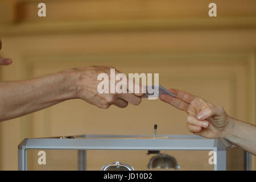
[{"label": "bent thumb of the right-hand person, pressed over the folded fingers", "polygon": [[196,117],[199,120],[208,119],[213,116],[222,116],[224,114],[224,109],[222,106],[214,106],[214,107],[207,107],[197,113]]}]

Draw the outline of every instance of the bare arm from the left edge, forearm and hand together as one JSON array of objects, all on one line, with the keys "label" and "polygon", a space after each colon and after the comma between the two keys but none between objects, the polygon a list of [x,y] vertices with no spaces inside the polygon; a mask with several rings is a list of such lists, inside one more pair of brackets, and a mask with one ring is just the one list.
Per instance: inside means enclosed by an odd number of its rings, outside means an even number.
[{"label": "bare arm from the left edge, forearm and hand together", "polygon": [[[73,98],[80,98],[104,109],[110,105],[126,107],[129,102],[133,105],[140,104],[141,93],[97,92],[100,82],[97,76],[106,73],[110,79],[110,68],[113,67],[74,68],[31,80],[2,81],[0,82],[0,121],[32,113]],[[119,73],[116,69],[115,72]]]}]

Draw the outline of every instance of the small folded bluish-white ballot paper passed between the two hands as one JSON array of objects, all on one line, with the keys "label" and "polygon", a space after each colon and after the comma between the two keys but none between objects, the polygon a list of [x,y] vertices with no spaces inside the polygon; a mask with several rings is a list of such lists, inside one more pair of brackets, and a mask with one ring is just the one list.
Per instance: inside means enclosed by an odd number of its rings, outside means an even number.
[{"label": "small folded bluish-white ballot paper passed between the two hands", "polygon": [[148,96],[154,96],[154,97],[159,97],[160,94],[167,94],[172,97],[177,97],[175,94],[171,93],[169,90],[163,88],[161,85],[150,85],[147,86],[147,91],[143,98],[148,97]]}]

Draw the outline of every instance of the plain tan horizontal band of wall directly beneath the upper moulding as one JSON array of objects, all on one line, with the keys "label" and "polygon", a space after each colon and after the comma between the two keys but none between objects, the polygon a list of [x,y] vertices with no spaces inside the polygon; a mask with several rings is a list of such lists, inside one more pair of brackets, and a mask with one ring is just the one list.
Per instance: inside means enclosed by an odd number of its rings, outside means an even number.
[{"label": "plain tan horizontal band of wall directly beneath the upper moulding", "polygon": [[[105,32],[91,34],[57,34],[3,37],[6,56],[23,56],[31,52],[46,53],[208,53],[247,52],[256,47],[255,30],[184,30]],[[15,52],[14,52],[15,51]],[[44,52],[42,52],[44,51]],[[21,55],[18,55],[20,53]],[[8,70],[8,69],[6,69]],[[3,69],[5,71],[5,69]]]}]

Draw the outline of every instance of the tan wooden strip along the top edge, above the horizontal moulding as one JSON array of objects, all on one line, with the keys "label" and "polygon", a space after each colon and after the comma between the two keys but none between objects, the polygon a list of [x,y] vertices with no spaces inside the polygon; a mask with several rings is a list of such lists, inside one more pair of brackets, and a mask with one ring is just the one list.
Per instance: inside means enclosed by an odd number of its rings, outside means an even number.
[{"label": "tan wooden strip along the top edge, above the horizontal moulding", "polygon": [[[22,21],[37,21],[37,5],[41,1],[20,1],[18,8],[26,10],[20,15]],[[110,0],[110,1],[44,1],[47,5],[47,20],[125,20],[125,19],[170,19],[208,16],[212,1],[170,0]],[[218,16],[255,16],[253,0],[214,1]],[[118,16],[117,16],[118,15]],[[43,19],[46,20],[46,19]]]}]

